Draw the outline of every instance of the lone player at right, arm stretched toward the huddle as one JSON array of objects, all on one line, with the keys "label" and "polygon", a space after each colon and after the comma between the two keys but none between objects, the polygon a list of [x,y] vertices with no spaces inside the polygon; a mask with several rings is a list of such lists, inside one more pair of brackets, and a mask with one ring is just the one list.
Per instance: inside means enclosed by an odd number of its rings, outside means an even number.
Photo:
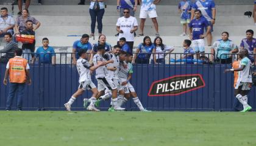
[{"label": "lone player at right, arm stretched toward the huddle", "polygon": [[239,56],[241,58],[240,67],[236,69],[226,69],[225,72],[238,71],[238,79],[235,85],[235,89],[237,89],[236,99],[244,106],[241,112],[246,112],[252,109],[247,103],[247,94],[252,87],[252,63],[248,58],[248,50],[241,49]]}]

